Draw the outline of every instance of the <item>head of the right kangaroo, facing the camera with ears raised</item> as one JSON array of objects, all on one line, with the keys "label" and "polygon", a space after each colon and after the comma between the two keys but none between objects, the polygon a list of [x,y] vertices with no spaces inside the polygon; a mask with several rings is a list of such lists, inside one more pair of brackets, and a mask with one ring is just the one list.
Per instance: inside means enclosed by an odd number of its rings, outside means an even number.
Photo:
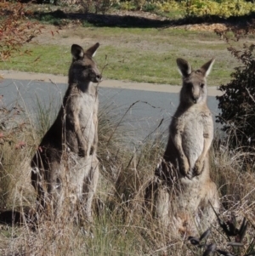
[{"label": "head of the right kangaroo, facing the camera with ears raised", "polygon": [[214,59],[209,60],[196,71],[184,59],[177,59],[176,62],[178,70],[183,77],[183,87],[180,94],[181,102],[189,105],[205,103],[207,100],[206,77],[212,70]]}]

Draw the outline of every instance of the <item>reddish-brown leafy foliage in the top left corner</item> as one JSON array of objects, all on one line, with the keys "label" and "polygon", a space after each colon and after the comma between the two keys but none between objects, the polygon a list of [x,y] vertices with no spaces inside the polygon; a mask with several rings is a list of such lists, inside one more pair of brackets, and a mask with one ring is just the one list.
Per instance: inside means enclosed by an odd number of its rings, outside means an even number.
[{"label": "reddish-brown leafy foliage in the top left corner", "polygon": [[26,11],[20,2],[1,1],[0,16],[0,61],[3,61],[37,37],[42,26],[26,20]]}]

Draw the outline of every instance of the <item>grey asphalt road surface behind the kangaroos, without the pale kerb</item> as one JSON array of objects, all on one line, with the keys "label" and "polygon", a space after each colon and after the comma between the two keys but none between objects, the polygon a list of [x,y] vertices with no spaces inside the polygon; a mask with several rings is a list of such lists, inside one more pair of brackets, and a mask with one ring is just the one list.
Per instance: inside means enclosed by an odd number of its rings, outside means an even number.
[{"label": "grey asphalt road surface behind the kangaroos, without the pale kerb", "polygon": [[[35,116],[38,105],[50,107],[55,115],[66,87],[65,83],[4,79],[0,83],[0,94],[3,95],[3,105],[19,104],[31,117]],[[123,138],[135,145],[142,143],[155,130],[167,136],[177,106],[178,93],[99,87],[99,109],[107,111],[118,121],[122,120]],[[218,114],[215,96],[208,96],[208,106],[215,117]]]}]

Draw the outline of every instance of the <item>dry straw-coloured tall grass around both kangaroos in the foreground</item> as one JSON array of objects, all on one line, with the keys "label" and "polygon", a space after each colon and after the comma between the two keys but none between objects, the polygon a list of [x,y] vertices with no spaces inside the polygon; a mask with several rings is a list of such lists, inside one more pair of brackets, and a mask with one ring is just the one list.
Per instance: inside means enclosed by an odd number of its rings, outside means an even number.
[{"label": "dry straw-coloured tall grass around both kangaroos in the foreground", "polygon": [[[173,228],[164,229],[144,208],[145,187],[164,151],[162,136],[149,136],[135,150],[125,146],[124,118],[115,116],[112,107],[106,105],[99,113],[100,179],[94,223],[77,224],[77,213],[70,212],[66,199],[59,219],[38,219],[33,228],[29,223],[0,225],[1,255],[201,255],[202,249],[190,246],[187,237]],[[43,113],[41,108],[41,121]],[[42,133],[21,110],[2,106],[0,118],[5,123],[0,133],[0,208],[33,209],[28,164]],[[238,223],[243,217],[250,222],[243,251],[253,242],[255,226],[255,175],[245,161],[241,151],[228,151],[226,145],[215,144],[212,149],[212,179],[221,196],[221,218],[228,219],[233,212]],[[217,222],[212,235],[210,241],[227,248]]]}]

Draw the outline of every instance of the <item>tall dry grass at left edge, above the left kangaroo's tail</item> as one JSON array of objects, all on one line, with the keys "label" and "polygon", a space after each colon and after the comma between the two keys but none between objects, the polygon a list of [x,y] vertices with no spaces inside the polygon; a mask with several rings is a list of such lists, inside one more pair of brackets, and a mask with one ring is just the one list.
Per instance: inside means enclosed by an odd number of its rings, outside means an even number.
[{"label": "tall dry grass at left edge, above the left kangaroo's tail", "polygon": [[[20,105],[0,106],[0,209],[27,203],[31,192],[26,186],[31,156],[31,123]],[[23,201],[23,196],[27,199]]]}]

